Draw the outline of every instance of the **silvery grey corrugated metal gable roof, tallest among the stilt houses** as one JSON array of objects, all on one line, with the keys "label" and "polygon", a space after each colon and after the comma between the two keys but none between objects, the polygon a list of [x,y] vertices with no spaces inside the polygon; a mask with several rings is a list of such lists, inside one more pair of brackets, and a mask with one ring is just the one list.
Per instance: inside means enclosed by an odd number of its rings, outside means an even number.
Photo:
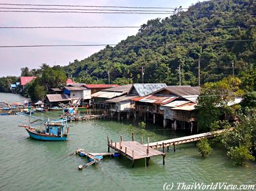
[{"label": "silvery grey corrugated metal gable roof, tallest among the stilt houses", "polygon": [[128,94],[131,94],[134,88],[139,96],[146,96],[165,87],[167,87],[166,84],[133,84]]}]

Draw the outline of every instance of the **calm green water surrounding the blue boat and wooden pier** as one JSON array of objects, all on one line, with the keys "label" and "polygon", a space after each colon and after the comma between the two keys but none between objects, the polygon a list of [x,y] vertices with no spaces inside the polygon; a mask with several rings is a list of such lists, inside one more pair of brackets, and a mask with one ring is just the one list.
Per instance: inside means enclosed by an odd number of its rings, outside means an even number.
[{"label": "calm green water surrounding the blue boat and wooden pier", "polygon": [[[19,102],[19,95],[0,93],[0,100]],[[58,113],[47,112],[57,118]],[[44,117],[42,114],[37,116]],[[162,157],[154,157],[145,168],[145,161],[126,158],[104,158],[100,164],[78,171],[78,165],[88,162],[75,155],[67,157],[78,148],[90,152],[106,152],[107,136],[119,141],[131,140],[127,126],[134,124],[136,141],[140,141],[135,121],[92,120],[72,122],[67,142],[43,142],[28,138],[19,121],[26,116],[0,116],[0,190],[163,190],[164,183],[227,182],[232,184],[255,184],[256,165],[234,167],[225,152],[214,149],[207,158],[198,154],[195,145],[182,144],[176,152],[170,148],[165,165]],[[150,141],[170,139],[182,134],[171,130],[157,130],[161,126],[148,127],[146,137]],[[175,190],[175,188],[173,189]]]}]

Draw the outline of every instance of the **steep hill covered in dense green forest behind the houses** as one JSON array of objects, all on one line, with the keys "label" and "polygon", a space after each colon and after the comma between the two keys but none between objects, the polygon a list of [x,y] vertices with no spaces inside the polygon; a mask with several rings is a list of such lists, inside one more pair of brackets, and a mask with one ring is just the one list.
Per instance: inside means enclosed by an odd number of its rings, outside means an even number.
[{"label": "steep hill covered in dense green forest behind the houses", "polygon": [[[256,3],[253,0],[215,0],[196,3],[188,11],[177,9],[166,19],[148,20],[138,34],[115,47],[65,66],[78,82],[108,80],[198,84],[220,80],[256,66]],[[234,41],[229,40],[244,40]],[[250,41],[247,41],[250,40]],[[102,82],[102,81],[101,81]]]}]

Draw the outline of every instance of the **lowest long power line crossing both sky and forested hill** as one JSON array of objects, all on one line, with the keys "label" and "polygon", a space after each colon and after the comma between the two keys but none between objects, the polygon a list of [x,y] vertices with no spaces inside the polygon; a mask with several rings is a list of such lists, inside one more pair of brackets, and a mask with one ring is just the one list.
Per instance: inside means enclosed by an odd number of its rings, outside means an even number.
[{"label": "lowest long power line crossing both sky and forested hill", "polygon": [[163,47],[163,46],[177,46],[177,45],[213,45],[216,43],[226,42],[254,42],[255,39],[246,40],[225,40],[214,41],[211,43],[171,43],[171,44],[156,44],[156,45],[121,45],[121,44],[81,44],[81,45],[2,45],[0,48],[21,48],[21,47],[102,47],[102,46],[116,46],[118,47]]}]

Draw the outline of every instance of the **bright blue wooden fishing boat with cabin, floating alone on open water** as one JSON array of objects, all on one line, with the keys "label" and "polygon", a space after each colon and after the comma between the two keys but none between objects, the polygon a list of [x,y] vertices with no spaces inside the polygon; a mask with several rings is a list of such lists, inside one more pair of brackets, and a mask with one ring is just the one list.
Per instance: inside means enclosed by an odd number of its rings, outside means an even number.
[{"label": "bright blue wooden fishing boat with cabin, floating alone on open water", "polygon": [[[35,117],[33,117],[35,118]],[[40,120],[40,118],[36,118],[36,121]],[[31,121],[31,113],[29,116],[29,124],[22,125],[24,127],[29,136],[33,139],[42,140],[42,141],[67,141],[68,140],[68,124],[67,119],[56,119],[52,121],[46,121],[44,123],[44,129],[36,128],[34,122]],[[39,123],[42,124],[42,123]]]}]

